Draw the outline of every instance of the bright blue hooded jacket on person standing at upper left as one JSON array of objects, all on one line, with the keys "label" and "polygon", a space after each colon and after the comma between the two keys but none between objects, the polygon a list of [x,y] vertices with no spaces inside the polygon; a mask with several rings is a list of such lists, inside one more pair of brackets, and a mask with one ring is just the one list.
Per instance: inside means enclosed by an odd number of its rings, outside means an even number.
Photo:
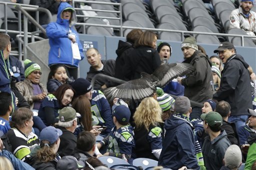
[{"label": "bright blue hooded jacket on person standing at upper left", "polygon": [[[75,11],[72,12],[71,22],[69,20],[62,19],[61,13],[65,8],[73,7],[67,2],[61,2],[58,7],[57,21],[50,22],[46,27],[46,33],[49,37],[49,56],[48,56],[48,65],[51,64],[68,64],[71,66],[78,67],[78,62],[80,60],[73,59],[72,57],[72,48],[71,40],[68,39],[68,34],[71,33],[75,35],[75,40],[78,44],[80,51],[81,59],[84,58],[82,53],[82,45],[80,43],[79,37],[75,29],[73,28],[75,22],[77,21]],[[74,9],[73,9],[74,10]]]}]

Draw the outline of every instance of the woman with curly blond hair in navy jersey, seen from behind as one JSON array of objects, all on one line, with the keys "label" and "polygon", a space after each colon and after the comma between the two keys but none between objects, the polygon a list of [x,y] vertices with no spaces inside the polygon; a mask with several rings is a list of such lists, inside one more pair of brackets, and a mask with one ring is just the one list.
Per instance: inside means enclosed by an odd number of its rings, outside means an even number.
[{"label": "woman with curly blond hair in navy jersey, seen from behind", "polygon": [[136,158],[158,160],[162,150],[162,110],[153,97],[144,98],[133,115]]}]

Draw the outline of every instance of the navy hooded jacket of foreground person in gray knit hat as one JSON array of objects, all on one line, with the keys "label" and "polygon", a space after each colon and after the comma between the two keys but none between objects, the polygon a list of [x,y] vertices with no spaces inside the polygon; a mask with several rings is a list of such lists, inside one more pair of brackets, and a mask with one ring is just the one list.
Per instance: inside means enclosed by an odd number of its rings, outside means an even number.
[{"label": "navy hooded jacket of foreground person in gray knit hat", "polygon": [[182,166],[199,170],[192,125],[185,119],[172,115],[164,123],[166,130],[158,166],[177,170]]}]

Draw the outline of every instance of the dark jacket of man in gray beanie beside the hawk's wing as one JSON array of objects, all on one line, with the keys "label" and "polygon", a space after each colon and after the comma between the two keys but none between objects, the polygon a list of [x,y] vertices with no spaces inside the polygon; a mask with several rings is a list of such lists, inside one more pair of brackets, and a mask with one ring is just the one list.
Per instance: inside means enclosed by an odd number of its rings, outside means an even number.
[{"label": "dark jacket of man in gray beanie beside the hawk's wing", "polygon": [[181,84],[185,87],[184,96],[190,100],[203,103],[212,98],[211,83],[211,61],[200,50],[197,50],[193,55],[183,61],[194,66],[195,71],[186,75],[182,79]]}]

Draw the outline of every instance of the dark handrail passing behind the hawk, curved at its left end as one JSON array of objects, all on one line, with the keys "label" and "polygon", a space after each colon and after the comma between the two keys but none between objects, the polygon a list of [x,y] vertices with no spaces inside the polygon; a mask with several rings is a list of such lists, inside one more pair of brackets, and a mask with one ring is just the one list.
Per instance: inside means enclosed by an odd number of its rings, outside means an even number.
[{"label": "dark handrail passing behind the hawk, curved at its left end", "polygon": [[[111,80],[111,81],[113,81],[113,82],[120,83],[120,84],[126,82],[126,81],[124,81],[124,80],[121,80],[121,79],[118,79],[118,78],[115,78],[115,77],[111,77],[111,76],[108,76],[108,75],[99,73],[99,74],[94,75],[94,77],[93,77],[93,78],[91,79],[91,81],[90,81],[92,90],[94,89],[94,83],[95,83],[96,79],[98,79],[98,78],[107,78],[107,79],[109,79],[109,80]],[[176,98],[178,97],[178,96],[175,96],[175,95],[172,95],[172,94],[169,94],[169,95],[170,95],[171,97],[173,97],[174,99],[176,99]],[[191,104],[191,106],[196,106],[196,107],[200,107],[200,108],[203,107],[203,104],[202,104],[202,103],[198,103],[198,102],[195,102],[195,101],[193,101],[193,100],[190,100],[190,104]]]}]

